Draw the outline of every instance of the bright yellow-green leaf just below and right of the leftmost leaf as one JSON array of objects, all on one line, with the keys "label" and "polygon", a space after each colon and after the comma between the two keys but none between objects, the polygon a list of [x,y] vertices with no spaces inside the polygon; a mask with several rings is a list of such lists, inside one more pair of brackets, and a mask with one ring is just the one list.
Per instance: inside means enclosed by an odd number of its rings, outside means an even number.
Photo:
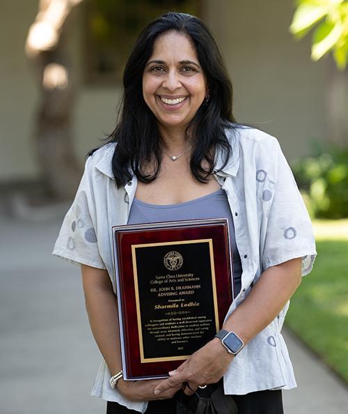
[{"label": "bright yellow-green leaf just below and right of the leftmost leaf", "polygon": [[[331,29],[330,29],[331,26]],[[328,32],[329,31],[329,32]],[[342,36],[342,24],[340,22],[336,24],[322,22],[315,30],[313,36],[313,46],[311,58],[313,61],[318,61],[324,54],[329,52],[340,37]],[[315,39],[318,39],[315,41]]]}]

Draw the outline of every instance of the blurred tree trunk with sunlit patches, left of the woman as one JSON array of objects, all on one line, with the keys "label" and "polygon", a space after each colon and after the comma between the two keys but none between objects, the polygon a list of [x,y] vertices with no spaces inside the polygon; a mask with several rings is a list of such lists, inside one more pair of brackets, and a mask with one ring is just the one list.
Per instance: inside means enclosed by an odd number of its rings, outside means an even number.
[{"label": "blurred tree trunk with sunlit patches, left of the woman", "polygon": [[74,89],[65,43],[67,17],[81,1],[40,0],[26,39],[26,54],[35,66],[40,85],[36,153],[47,194],[56,200],[72,199],[81,178],[73,148]]}]

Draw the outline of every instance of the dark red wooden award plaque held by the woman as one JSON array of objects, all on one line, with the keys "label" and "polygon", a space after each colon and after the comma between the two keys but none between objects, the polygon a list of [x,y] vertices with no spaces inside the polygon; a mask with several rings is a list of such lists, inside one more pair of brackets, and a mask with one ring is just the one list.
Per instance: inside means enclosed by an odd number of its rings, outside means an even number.
[{"label": "dark red wooden award plaque held by the woman", "polygon": [[113,227],[122,370],[165,378],[216,335],[232,302],[227,219]]}]

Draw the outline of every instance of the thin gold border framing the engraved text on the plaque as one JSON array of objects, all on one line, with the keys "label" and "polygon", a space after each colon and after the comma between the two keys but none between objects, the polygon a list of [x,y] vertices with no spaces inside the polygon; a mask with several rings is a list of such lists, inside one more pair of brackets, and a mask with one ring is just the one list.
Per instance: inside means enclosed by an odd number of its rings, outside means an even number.
[{"label": "thin gold border framing the engraved text on the plaque", "polygon": [[216,296],[214,250],[213,250],[212,238],[132,245],[132,263],[133,263],[133,269],[134,269],[136,316],[137,316],[137,319],[138,319],[138,332],[139,332],[139,345],[140,345],[141,362],[146,363],[146,362],[186,360],[187,358],[189,358],[190,355],[180,355],[180,356],[176,356],[176,357],[172,356],[172,357],[163,357],[163,358],[144,358],[143,332],[142,332],[142,328],[141,328],[141,312],[140,312],[140,300],[139,300],[138,271],[137,271],[137,268],[136,268],[136,249],[141,248],[141,247],[155,247],[155,246],[166,246],[166,245],[185,245],[185,244],[192,244],[192,243],[209,243],[210,270],[211,270],[211,273],[212,273],[212,293],[213,293],[213,302],[214,302],[214,315],[215,315],[216,332],[219,332],[219,330],[220,330],[220,328],[219,328],[219,311],[218,311],[218,307],[217,307],[217,296]]}]

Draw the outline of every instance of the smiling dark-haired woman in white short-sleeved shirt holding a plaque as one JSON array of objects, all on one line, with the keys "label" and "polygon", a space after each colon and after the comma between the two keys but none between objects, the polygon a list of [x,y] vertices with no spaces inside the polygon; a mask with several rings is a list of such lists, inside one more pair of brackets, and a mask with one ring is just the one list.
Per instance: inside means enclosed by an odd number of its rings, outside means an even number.
[{"label": "smiling dark-haired woman in white short-sleeved shirt holding a plaque", "polygon": [[[124,89],[120,123],[88,158],[54,249],[81,263],[90,326],[105,361],[92,394],[109,401],[108,413],[175,413],[173,397],[223,381],[239,413],[283,413],[281,389],[296,383],[280,329],[315,246],[278,141],[235,123],[219,49],[191,15],[168,13],[143,30]],[[232,229],[239,293],[225,331],[168,379],[123,381],[111,227],[206,217],[227,217]],[[235,345],[223,343],[227,334]]]}]

